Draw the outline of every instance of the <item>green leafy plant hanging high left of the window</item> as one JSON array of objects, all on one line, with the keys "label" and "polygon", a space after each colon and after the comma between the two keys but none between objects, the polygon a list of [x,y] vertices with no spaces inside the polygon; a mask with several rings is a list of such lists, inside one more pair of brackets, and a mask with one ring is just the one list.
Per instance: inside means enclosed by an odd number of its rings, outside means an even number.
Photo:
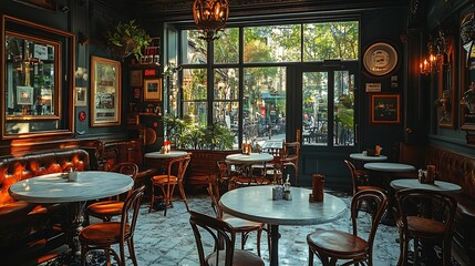
[{"label": "green leafy plant hanging high left of the window", "polygon": [[151,44],[151,37],[145,30],[135,23],[135,20],[128,22],[118,22],[106,33],[107,43],[112,52],[124,60],[134,55],[136,60],[142,57],[142,49]]}]

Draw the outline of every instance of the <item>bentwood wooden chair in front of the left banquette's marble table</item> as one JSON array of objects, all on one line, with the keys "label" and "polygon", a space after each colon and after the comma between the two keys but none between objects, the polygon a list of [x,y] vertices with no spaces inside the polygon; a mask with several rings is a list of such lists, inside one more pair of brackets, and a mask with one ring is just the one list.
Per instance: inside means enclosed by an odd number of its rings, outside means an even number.
[{"label": "bentwood wooden chair in front of the left banquette's marble table", "polygon": [[[111,263],[111,254],[118,265],[125,266],[125,243],[134,265],[137,265],[134,249],[134,232],[138,217],[138,211],[144,197],[145,186],[132,192],[124,202],[120,222],[104,222],[89,225],[79,234],[81,243],[81,265],[85,265],[85,257],[90,250],[103,249],[106,253],[107,265]],[[118,244],[120,255],[111,248]]]}]

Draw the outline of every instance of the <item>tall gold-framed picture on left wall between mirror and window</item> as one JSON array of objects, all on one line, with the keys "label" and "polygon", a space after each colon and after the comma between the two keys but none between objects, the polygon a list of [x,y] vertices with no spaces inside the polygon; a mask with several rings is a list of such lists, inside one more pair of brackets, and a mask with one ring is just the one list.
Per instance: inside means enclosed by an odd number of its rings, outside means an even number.
[{"label": "tall gold-framed picture on left wall between mirror and window", "polygon": [[91,57],[91,126],[121,124],[121,62]]}]

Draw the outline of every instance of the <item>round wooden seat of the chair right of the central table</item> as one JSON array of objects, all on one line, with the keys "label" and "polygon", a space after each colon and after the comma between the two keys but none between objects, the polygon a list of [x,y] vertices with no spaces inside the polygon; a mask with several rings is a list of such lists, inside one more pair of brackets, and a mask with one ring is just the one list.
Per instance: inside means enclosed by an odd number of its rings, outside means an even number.
[{"label": "round wooden seat of the chair right of the central table", "polygon": [[340,231],[317,231],[307,236],[307,243],[318,252],[355,256],[364,254],[368,242],[361,237]]}]

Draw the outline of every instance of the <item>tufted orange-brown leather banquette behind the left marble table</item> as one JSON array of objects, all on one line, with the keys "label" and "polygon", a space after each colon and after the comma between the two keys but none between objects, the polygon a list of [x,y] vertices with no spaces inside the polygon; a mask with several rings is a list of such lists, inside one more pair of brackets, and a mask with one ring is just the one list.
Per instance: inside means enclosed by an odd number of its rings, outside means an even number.
[{"label": "tufted orange-brown leather banquette behind the left marble table", "polygon": [[[52,250],[63,246],[64,204],[33,204],[16,201],[9,187],[16,182],[35,176],[90,168],[84,150],[60,150],[0,158],[0,264],[27,265],[41,263]],[[4,264],[3,264],[4,263]]]}]

